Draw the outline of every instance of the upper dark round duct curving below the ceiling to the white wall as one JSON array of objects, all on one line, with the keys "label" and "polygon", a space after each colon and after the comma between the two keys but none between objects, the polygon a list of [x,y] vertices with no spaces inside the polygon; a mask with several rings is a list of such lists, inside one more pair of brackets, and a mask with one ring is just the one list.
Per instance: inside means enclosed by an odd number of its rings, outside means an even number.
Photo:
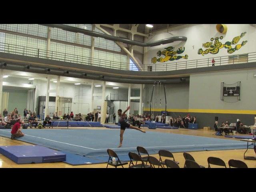
[{"label": "upper dark round duct curving below the ceiling to the white wall", "polygon": [[98,33],[95,31],[81,29],[78,27],[68,26],[68,25],[64,25],[64,24],[40,24],[40,25],[52,27],[52,28],[60,28],[62,30],[66,30],[66,31],[70,31],[70,32],[82,33],[82,34],[85,34],[88,36],[93,36],[93,37],[101,37],[101,38],[104,38],[107,40],[122,42],[122,43],[126,43],[129,45],[137,45],[137,46],[141,46],[141,47],[153,47],[153,46],[158,46],[158,45],[162,45],[162,44],[172,43],[174,41],[186,41],[187,40],[187,38],[184,36],[176,36],[176,37],[171,37],[171,38],[167,38],[167,39],[157,40],[154,42],[141,42],[141,41],[129,40],[129,39],[122,38],[122,37],[116,37],[116,36],[112,36],[112,35],[102,34],[102,33]]}]

